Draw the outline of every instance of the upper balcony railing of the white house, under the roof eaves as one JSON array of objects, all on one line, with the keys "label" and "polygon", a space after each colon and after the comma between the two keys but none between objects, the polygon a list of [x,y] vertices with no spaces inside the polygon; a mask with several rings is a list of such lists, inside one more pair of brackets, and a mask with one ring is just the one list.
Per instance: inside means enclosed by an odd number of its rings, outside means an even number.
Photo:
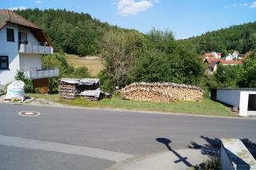
[{"label": "upper balcony railing of the white house, under the roof eaves", "polygon": [[19,53],[50,54],[54,53],[54,49],[52,46],[49,46],[46,43],[32,43],[28,41],[20,41]]}]

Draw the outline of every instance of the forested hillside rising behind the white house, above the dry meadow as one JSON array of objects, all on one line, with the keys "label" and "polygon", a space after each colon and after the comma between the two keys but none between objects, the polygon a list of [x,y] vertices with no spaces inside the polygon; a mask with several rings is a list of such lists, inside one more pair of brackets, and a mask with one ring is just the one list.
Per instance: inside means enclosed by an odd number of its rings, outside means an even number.
[{"label": "forested hillside rising behind the white house, above the dry meadow", "polygon": [[103,34],[109,30],[121,30],[92,18],[90,14],[67,10],[28,9],[15,12],[40,26],[57,52],[98,53],[98,42],[101,42]]}]

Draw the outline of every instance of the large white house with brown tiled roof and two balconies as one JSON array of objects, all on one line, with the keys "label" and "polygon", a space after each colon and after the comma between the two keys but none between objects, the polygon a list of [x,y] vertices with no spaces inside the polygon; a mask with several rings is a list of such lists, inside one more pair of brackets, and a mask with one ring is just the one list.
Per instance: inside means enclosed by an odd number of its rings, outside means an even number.
[{"label": "large white house with brown tiled roof and two balconies", "polygon": [[11,81],[17,70],[26,77],[58,76],[58,69],[42,69],[41,54],[54,53],[42,30],[11,10],[0,10],[0,88]]}]

